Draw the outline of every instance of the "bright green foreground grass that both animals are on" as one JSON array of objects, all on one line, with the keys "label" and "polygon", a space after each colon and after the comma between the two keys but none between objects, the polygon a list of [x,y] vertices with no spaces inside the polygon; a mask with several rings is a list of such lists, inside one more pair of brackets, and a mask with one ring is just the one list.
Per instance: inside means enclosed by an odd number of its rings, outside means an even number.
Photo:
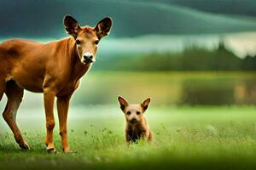
[{"label": "bright green foreground grass that both animals are on", "polygon": [[255,109],[151,106],[146,115],[154,143],[139,142],[127,148],[125,118],[116,105],[72,107],[68,136],[76,153],[62,154],[56,123],[55,147],[59,152],[49,155],[44,146],[43,108],[29,112],[21,108],[17,121],[31,150],[20,150],[1,120],[0,168],[255,169]]}]

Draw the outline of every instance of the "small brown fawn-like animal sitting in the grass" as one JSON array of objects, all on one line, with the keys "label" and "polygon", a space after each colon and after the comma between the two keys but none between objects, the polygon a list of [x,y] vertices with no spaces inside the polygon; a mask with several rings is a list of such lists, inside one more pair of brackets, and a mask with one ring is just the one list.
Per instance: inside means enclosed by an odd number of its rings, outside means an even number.
[{"label": "small brown fawn-like animal sitting in the grass", "polygon": [[119,105],[125,113],[125,139],[128,144],[137,142],[138,139],[152,141],[154,135],[148,126],[145,111],[148,109],[150,99],[145,99],[142,104],[129,104],[123,97],[119,96]]}]

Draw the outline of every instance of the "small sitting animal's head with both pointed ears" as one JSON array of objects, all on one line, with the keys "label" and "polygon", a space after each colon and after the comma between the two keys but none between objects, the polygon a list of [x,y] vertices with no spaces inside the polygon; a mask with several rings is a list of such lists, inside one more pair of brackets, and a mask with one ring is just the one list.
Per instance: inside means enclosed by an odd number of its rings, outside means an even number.
[{"label": "small sitting animal's head with both pointed ears", "polygon": [[143,114],[148,109],[150,99],[145,99],[142,104],[129,104],[124,98],[118,97],[121,110],[125,113],[126,122],[131,126],[143,121]]}]

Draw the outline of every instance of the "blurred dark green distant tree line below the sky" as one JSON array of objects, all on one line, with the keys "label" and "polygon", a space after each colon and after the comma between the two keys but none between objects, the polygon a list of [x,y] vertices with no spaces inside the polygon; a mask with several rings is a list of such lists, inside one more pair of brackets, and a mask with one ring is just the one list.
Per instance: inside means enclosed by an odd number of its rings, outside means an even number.
[{"label": "blurred dark green distant tree line below the sky", "polygon": [[99,70],[119,71],[256,71],[256,56],[244,59],[219,43],[215,50],[190,47],[178,54],[137,54],[104,59]]}]

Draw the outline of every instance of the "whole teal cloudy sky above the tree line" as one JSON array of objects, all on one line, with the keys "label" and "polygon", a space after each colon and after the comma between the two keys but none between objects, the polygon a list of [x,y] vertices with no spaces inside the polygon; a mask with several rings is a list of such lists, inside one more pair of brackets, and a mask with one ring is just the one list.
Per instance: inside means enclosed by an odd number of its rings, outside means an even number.
[{"label": "whole teal cloudy sky above the tree line", "polygon": [[255,8],[254,0],[0,1],[0,41],[20,37],[47,42],[67,37],[62,23],[65,14],[72,14],[81,26],[96,26],[110,16],[113,29],[102,53],[124,48],[127,53],[175,52],[188,42],[214,48],[221,37],[243,57],[255,52]]}]

